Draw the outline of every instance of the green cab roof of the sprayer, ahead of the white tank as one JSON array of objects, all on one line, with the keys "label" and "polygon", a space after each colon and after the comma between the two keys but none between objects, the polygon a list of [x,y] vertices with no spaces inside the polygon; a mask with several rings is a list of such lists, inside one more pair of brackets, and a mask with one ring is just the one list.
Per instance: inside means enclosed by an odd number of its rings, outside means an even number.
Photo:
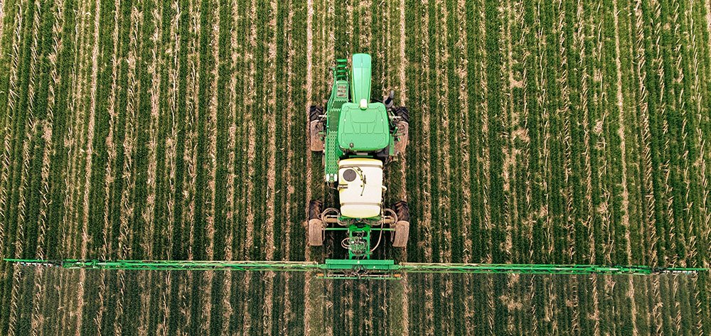
[{"label": "green cab roof of the sprayer, ahead of the white tank", "polygon": [[344,103],[338,120],[338,146],[343,151],[379,151],[390,141],[387,110],[383,103]]}]

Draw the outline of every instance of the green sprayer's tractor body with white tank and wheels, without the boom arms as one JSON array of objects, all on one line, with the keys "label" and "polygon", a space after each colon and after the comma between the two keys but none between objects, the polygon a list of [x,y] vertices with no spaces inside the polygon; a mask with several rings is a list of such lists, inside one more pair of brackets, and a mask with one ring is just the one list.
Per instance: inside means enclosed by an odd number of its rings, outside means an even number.
[{"label": "green sprayer's tractor body with white tank and wheels, without the boom arms", "polygon": [[348,260],[366,268],[380,262],[370,256],[384,243],[383,234],[389,233],[392,246],[405,247],[410,232],[407,202],[383,207],[383,168],[405,152],[410,121],[392,96],[370,99],[370,55],[355,54],[350,72],[346,60],[336,61],[326,111],[309,109],[311,151],[323,151],[324,179],[339,200],[338,208],[324,210],[321,200],[309,202],[309,245],[321,246],[326,232],[346,231],[341,246]]}]

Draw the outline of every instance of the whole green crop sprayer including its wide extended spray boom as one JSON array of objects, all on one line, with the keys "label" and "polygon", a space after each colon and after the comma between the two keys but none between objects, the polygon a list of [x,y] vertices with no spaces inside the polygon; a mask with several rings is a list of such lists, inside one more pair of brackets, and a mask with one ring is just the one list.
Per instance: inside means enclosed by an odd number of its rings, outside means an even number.
[{"label": "whole green crop sprayer including its wide extended spray boom", "polygon": [[[324,155],[328,195],[311,200],[308,212],[310,246],[324,244],[326,234],[343,237],[347,258],[319,261],[149,261],[33,260],[11,263],[64,269],[304,271],[321,278],[397,279],[403,273],[524,273],[524,274],[690,274],[708,269],[651,266],[562,264],[422,264],[378,259],[374,252],[390,244],[407,246],[410,213],[400,200],[384,206],[384,168],[402,156],[407,146],[410,114],[394,104],[392,92],[373,99],[371,58],[355,54],[336,60],[331,95],[325,107],[309,108],[309,147]],[[334,193],[331,190],[336,190]],[[337,199],[337,200],[336,200]],[[324,206],[327,205],[328,207]],[[339,239],[340,239],[339,237]]]}]

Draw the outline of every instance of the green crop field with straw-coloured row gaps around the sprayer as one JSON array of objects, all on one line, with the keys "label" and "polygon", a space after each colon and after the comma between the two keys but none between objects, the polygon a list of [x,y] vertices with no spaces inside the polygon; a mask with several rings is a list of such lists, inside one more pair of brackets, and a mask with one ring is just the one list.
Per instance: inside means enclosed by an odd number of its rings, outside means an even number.
[{"label": "green crop field with straw-coloured row gaps around the sprayer", "polygon": [[[711,266],[710,0],[0,0],[0,258],[315,260],[336,58],[410,109],[396,261]],[[711,278],[0,263],[0,335],[710,335]]]}]

